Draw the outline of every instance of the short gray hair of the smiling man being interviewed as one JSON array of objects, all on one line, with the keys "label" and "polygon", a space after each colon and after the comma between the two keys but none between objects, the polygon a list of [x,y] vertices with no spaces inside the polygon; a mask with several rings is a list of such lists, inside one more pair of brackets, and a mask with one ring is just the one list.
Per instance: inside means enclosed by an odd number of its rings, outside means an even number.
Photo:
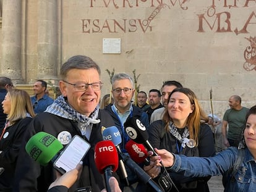
[{"label": "short gray hair of the smiling man being interviewed", "polygon": [[61,78],[64,80],[67,77],[67,72],[71,69],[96,69],[100,75],[100,67],[94,62],[90,57],[87,56],[73,56],[70,57],[62,66],[61,66]]}]

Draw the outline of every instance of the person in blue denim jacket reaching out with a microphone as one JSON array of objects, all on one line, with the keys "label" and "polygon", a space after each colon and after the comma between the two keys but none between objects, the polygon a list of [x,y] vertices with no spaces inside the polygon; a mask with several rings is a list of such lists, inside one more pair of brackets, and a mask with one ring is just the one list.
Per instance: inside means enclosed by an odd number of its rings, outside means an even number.
[{"label": "person in blue denim jacket reaching out with a microphone", "polygon": [[245,116],[239,149],[230,147],[214,157],[203,158],[179,156],[165,149],[155,150],[158,156],[150,158],[151,167],[161,166],[161,161],[171,172],[179,172],[186,177],[223,175],[224,191],[255,191],[256,106],[251,107]]}]

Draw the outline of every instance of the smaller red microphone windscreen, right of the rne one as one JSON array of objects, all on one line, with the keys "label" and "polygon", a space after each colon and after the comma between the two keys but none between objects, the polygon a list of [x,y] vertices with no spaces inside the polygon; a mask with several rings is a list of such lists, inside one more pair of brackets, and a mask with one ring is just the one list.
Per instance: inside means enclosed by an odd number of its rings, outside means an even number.
[{"label": "smaller red microphone windscreen, right of the rne one", "polygon": [[148,156],[147,149],[143,146],[143,144],[135,143],[132,140],[129,140],[126,143],[126,150],[130,154],[132,160],[137,163],[142,163]]}]

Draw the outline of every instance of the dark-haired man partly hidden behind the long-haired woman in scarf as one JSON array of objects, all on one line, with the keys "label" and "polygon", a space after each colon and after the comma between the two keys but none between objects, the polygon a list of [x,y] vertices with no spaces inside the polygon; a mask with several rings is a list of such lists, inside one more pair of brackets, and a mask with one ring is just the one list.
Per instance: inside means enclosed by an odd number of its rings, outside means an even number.
[{"label": "dark-haired man partly hidden behind the long-haired woman in scarf", "polygon": [[153,114],[151,115],[150,118],[150,123],[154,122],[155,120],[162,119],[164,109],[168,104],[169,94],[171,94],[171,91],[173,91],[175,88],[182,88],[181,83],[179,83],[178,81],[164,81],[161,89],[161,98],[164,107],[161,107],[160,109],[156,109],[155,111],[153,111]]}]

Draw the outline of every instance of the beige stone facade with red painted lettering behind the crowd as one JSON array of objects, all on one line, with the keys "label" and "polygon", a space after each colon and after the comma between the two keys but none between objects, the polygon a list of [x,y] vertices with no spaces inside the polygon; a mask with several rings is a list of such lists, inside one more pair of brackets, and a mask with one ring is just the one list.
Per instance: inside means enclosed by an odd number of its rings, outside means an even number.
[{"label": "beige stone facade with red painted lettering behind the crowd", "polygon": [[[140,74],[140,90],[177,80],[220,117],[228,98],[255,102],[256,2],[250,0],[2,0],[0,73],[22,86],[58,85],[59,68],[84,54],[109,75]],[[1,23],[1,22],[0,22]],[[120,46],[120,49],[119,49]],[[107,54],[105,52],[108,52]]]}]

